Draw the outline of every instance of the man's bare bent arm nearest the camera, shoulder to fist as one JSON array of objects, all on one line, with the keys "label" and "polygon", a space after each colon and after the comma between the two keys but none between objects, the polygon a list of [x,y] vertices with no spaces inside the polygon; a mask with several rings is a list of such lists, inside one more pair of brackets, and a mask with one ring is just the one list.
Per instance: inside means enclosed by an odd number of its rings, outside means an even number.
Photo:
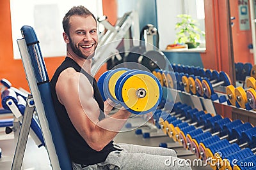
[{"label": "man's bare bent arm nearest the camera, shoulder to fist", "polygon": [[56,93],[72,124],[88,145],[102,150],[115,138],[131,113],[121,109],[99,121],[100,108],[93,98],[93,88],[84,74],[72,68],[63,71],[56,83]]}]

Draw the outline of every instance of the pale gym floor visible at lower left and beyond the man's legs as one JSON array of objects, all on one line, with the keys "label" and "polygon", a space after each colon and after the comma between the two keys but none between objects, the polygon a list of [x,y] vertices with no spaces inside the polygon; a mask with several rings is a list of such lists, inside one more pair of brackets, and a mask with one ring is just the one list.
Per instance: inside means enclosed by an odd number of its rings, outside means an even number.
[{"label": "pale gym floor visible at lower left and beyond the man's legs", "polygon": [[[132,120],[134,123],[134,120]],[[137,121],[141,121],[138,119]],[[150,128],[145,126],[141,127],[143,131],[150,131]],[[114,139],[115,143],[131,143],[136,145],[146,146],[159,146],[159,143],[170,143],[170,146],[179,146],[178,143],[173,142],[168,136],[155,137],[155,138],[143,138],[141,135],[135,134],[135,129],[125,128],[122,129],[125,132],[120,132]],[[158,132],[155,132],[157,134]],[[159,131],[161,133],[161,130]],[[15,139],[13,133],[4,134],[4,129],[0,129],[0,148],[2,149],[2,158],[0,159],[0,169],[8,170],[12,167],[12,159],[15,153]],[[191,152],[184,148],[175,148],[178,157],[183,159],[189,159],[193,162],[196,159],[195,155],[191,155]],[[50,161],[47,155],[47,151],[44,147],[38,148],[32,138],[28,138],[26,151],[24,153],[24,159],[22,169],[26,170],[47,170],[51,169]],[[192,169],[211,169],[210,166],[193,166]]]}]

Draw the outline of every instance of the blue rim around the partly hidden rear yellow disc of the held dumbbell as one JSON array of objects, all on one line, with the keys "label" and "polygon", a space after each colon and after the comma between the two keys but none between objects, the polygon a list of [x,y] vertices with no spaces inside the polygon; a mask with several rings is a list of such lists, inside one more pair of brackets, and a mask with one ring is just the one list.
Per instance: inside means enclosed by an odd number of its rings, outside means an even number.
[{"label": "blue rim around the partly hidden rear yellow disc of the held dumbbell", "polygon": [[111,70],[107,75],[106,75],[106,78],[104,80],[104,83],[103,83],[103,90],[104,90],[104,94],[106,96],[106,99],[111,99],[111,101],[115,102],[115,103],[118,103],[119,101],[115,99],[114,96],[111,95],[111,92],[109,91],[109,80],[111,79],[111,77],[113,76],[113,74],[115,74],[116,72],[118,71],[129,71],[130,69],[127,69],[125,67],[122,67],[122,68],[117,68],[117,69],[114,69],[114,70]]}]

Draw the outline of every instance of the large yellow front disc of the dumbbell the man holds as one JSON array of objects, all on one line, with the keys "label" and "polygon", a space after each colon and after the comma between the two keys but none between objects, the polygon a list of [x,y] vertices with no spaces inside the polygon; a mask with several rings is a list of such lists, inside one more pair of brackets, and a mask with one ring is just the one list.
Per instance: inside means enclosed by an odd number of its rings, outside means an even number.
[{"label": "large yellow front disc of the dumbbell the man holds", "polygon": [[[143,98],[137,96],[138,89],[145,89]],[[126,106],[134,111],[147,111],[153,108],[160,96],[157,82],[147,74],[135,74],[125,81],[122,87],[122,99]]]}]

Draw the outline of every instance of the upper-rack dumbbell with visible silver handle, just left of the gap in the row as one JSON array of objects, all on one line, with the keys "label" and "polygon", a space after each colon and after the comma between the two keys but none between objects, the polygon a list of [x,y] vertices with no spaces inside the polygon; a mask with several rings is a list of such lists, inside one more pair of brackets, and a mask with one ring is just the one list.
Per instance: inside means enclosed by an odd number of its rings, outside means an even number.
[{"label": "upper-rack dumbbell with visible silver handle, just left of the gap in the row", "polygon": [[207,98],[211,98],[212,94],[214,94],[214,88],[220,85],[228,86],[230,85],[230,78],[224,71],[220,71],[220,79],[216,80],[214,83],[211,83],[207,78],[202,80],[202,87],[204,91],[204,95]]}]

